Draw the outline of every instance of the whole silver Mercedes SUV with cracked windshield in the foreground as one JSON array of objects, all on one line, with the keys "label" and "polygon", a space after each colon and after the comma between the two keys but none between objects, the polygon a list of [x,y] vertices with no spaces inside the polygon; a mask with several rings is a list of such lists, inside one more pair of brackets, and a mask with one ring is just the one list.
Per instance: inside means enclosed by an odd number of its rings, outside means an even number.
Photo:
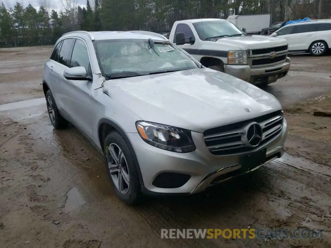
[{"label": "whole silver Mercedes SUV with cracked windshield in the foreground", "polygon": [[203,191],[284,152],[287,123],[275,97],[205,68],[161,34],[64,34],[45,63],[43,90],[53,126],[72,123],[102,152],[128,204]]}]

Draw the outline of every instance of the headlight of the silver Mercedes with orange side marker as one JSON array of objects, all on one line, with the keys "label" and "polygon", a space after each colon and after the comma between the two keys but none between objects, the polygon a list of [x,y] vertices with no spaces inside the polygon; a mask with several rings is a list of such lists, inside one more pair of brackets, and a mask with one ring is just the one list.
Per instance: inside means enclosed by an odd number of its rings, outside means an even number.
[{"label": "headlight of the silver Mercedes with orange side marker", "polygon": [[196,149],[190,130],[147,121],[138,121],[136,127],[140,137],[150,145],[183,153]]}]

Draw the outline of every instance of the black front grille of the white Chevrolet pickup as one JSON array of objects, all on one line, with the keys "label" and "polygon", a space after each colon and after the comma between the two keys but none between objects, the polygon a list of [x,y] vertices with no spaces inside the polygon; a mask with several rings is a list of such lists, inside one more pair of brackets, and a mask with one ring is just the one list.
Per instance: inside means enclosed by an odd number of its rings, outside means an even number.
[{"label": "black front grille of the white Chevrolet pickup", "polygon": [[247,51],[247,62],[253,68],[277,65],[286,61],[287,49],[288,45],[251,49]]}]

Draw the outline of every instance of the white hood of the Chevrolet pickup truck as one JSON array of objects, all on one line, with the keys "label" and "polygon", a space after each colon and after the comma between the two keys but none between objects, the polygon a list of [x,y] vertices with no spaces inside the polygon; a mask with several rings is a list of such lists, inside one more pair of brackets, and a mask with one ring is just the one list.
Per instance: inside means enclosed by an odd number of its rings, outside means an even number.
[{"label": "white hood of the Chevrolet pickup truck", "polygon": [[273,38],[265,35],[245,35],[221,38],[216,43],[226,44],[229,46],[238,46],[242,50],[263,48],[270,46],[279,46],[287,44],[285,39]]}]

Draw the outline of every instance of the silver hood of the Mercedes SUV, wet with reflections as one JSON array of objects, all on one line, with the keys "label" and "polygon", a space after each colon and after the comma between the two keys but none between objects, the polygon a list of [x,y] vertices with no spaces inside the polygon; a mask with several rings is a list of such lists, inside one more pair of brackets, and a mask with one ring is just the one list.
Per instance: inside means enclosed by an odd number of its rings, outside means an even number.
[{"label": "silver hood of the Mercedes SUV, wet with reflections", "polygon": [[209,68],[108,80],[103,90],[141,120],[200,133],[281,109],[271,94]]}]

